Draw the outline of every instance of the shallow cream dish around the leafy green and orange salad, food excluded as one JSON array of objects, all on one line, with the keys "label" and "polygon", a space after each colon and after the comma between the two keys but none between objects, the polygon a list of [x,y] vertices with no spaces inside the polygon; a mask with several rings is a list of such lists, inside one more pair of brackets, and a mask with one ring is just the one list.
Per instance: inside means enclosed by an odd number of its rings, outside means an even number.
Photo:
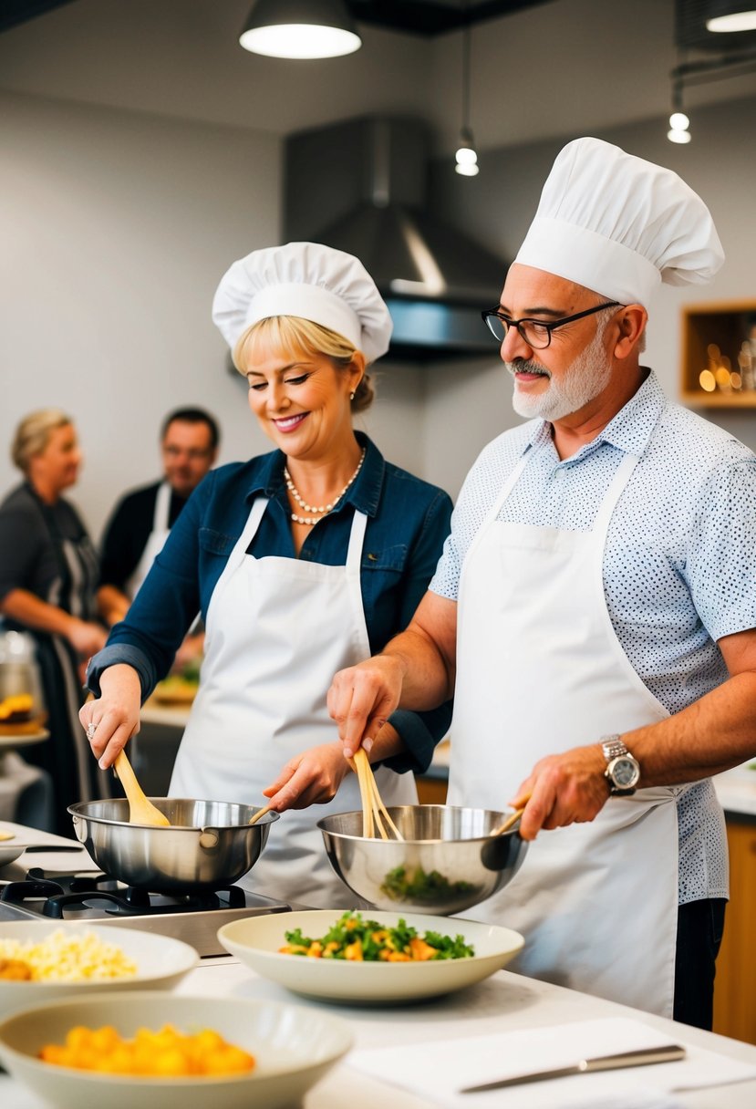
[{"label": "shallow cream dish around the leafy green and orange salad, food excluded", "polygon": [[310,909],[244,917],[219,928],[218,939],[226,950],[257,974],[295,994],[353,1005],[415,1001],[472,986],[505,966],[524,943],[522,936],[510,928],[479,920],[366,909],[364,919],[389,927],[396,926],[401,918],[420,935],[426,932],[461,935],[476,954],[471,958],[430,959],[427,963],[351,963],[279,953],[286,944],[287,932],[302,928],[306,936],[317,939],[340,916],[339,909]]}]

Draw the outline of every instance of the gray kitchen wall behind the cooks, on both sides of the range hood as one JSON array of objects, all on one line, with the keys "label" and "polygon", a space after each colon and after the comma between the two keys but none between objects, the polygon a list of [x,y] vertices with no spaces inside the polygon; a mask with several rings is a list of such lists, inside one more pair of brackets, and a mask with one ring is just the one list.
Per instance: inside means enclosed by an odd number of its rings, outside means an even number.
[{"label": "gray kitchen wall behind the cooks, on both sides of the range hood", "polygon": [[[86,456],[72,497],[96,536],[115,497],[156,476],[170,408],[201,404],[219,417],[222,461],[268,448],[210,305],[234,258],[279,241],[280,143],[14,93],[0,92],[0,444],[32,408],[71,410]],[[647,362],[673,397],[681,306],[756,299],[756,100],[692,114],[687,147],[666,141],[662,116],[599,132],[677,170],[709,204],[727,253],[713,285],[665,287],[652,306]],[[476,179],[436,161],[433,207],[511,257],[570,138],[483,151]],[[713,416],[756,447],[756,414]],[[493,347],[490,360],[379,366],[362,426],[391,460],[456,495],[480,448],[515,420]],[[1,446],[0,495],[17,479]]]}]

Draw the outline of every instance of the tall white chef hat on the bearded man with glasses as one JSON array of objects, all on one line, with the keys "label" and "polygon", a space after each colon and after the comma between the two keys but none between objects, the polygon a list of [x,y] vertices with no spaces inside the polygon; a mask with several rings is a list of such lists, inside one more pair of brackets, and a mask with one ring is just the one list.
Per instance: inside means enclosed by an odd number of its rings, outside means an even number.
[{"label": "tall white chef hat on the bearded man with glasses", "polygon": [[556,155],[514,261],[647,306],[661,282],[711,281],[724,252],[708,208],[676,173],[575,139]]}]

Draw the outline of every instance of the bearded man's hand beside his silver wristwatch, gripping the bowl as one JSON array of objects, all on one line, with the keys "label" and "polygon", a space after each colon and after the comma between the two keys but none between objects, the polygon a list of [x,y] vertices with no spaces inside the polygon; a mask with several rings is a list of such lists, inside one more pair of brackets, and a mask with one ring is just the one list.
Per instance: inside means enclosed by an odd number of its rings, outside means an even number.
[{"label": "bearded man's hand beside his silver wristwatch, gripping the bowl", "polygon": [[534,840],[541,828],[592,821],[609,800],[605,770],[600,743],[548,755],[535,763],[510,802],[514,808],[521,808],[530,794],[520,821],[522,838]]}]

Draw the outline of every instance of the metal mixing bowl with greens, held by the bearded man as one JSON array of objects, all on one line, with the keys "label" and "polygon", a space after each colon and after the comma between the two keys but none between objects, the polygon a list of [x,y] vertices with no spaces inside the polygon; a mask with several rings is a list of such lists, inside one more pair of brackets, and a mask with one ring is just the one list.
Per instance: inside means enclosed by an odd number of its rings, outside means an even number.
[{"label": "metal mixing bowl with greens, held by the bearded man", "polygon": [[401,805],[388,812],[403,843],[364,838],[361,811],[318,821],[330,865],[375,908],[461,913],[505,886],[528,849],[514,830],[491,838],[505,813],[450,805]]}]

